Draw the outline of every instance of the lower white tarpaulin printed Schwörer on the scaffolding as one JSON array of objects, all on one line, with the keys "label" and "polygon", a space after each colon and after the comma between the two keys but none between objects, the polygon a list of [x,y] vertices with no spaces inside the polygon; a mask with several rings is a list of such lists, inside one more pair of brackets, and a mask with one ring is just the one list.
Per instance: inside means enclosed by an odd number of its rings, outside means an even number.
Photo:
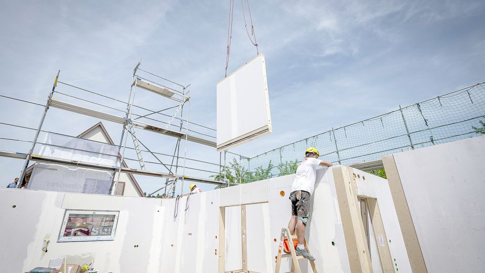
[{"label": "lower white tarpaulin printed Schw\u00f6rer on the scaffolding", "polygon": [[29,189],[56,192],[104,194],[110,193],[112,171],[61,164],[36,163]]}]

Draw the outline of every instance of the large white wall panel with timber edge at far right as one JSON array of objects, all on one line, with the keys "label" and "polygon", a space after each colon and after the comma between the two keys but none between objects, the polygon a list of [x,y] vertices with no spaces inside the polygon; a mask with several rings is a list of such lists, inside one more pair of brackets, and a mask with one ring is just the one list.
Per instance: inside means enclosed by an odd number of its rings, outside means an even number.
[{"label": "large white wall panel with timber edge at far right", "polygon": [[[383,161],[395,202],[403,203],[405,197],[409,207],[399,210],[399,219],[407,231],[410,258],[415,267],[421,266],[414,272],[484,272],[485,136],[398,153]],[[425,269],[419,257],[411,257],[419,252]]]}]

